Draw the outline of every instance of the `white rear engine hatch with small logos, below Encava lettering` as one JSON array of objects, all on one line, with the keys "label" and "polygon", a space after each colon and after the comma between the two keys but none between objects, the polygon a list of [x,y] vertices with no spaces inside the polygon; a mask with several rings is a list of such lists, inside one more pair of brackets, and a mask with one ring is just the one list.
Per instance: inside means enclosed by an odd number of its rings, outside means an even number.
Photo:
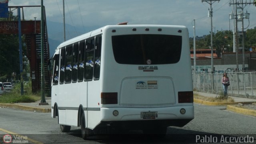
[{"label": "white rear engine hatch with small logos, below Encava lettering", "polygon": [[175,103],[172,79],[152,76],[124,78],[119,98],[120,105],[172,105]]}]

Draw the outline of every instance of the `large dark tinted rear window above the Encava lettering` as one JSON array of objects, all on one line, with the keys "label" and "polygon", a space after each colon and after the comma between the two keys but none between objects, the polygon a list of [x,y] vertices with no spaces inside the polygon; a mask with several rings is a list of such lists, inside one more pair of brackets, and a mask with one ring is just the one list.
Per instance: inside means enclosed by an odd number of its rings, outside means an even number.
[{"label": "large dark tinted rear window above the Encava lettering", "polygon": [[114,58],[120,64],[174,64],[180,60],[182,36],[112,36]]}]

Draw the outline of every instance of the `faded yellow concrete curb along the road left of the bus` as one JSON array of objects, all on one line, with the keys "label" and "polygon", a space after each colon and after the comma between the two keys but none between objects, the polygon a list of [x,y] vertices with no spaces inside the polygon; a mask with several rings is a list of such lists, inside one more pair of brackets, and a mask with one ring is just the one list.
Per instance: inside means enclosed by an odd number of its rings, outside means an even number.
[{"label": "faded yellow concrete curb along the road left of the bus", "polygon": [[30,107],[30,106],[16,105],[16,104],[10,104],[10,103],[0,103],[0,107],[15,108],[15,109],[20,109],[25,111],[37,111],[41,113],[50,113],[52,111],[52,109],[47,109],[47,108]]}]

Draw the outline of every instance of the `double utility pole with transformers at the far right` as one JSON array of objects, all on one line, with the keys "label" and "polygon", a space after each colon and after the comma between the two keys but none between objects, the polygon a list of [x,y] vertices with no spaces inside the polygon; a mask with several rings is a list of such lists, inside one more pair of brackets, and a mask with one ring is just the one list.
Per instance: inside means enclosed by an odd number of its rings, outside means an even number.
[{"label": "double utility pole with transformers at the far right", "polygon": [[[245,58],[244,58],[244,8],[249,4],[254,4],[254,2],[251,2],[251,0],[250,0],[250,2],[247,2],[247,0],[246,0],[246,2],[244,3],[243,2],[243,0],[240,0],[239,2],[234,2],[234,0],[233,0],[233,3],[230,3],[230,5],[236,5],[236,8],[237,8],[237,6],[239,7],[239,9],[241,9],[242,10],[242,12],[239,12],[238,14],[237,14],[237,12],[236,12],[236,15],[235,15],[235,17],[236,17],[236,31],[237,31],[237,21],[242,21],[242,70],[244,71],[245,70]],[[245,18],[246,19],[249,19],[249,16],[250,16],[250,14],[249,13],[245,13]],[[238,41],[237,39],[236,39],[236,41]],[[237,44],[238,42],[236,42],[236,44]],[[238,45],[236,45],[236,47],[238,47]],[[238,48],[237,48],[238,49]],[[237,56],[236,56],[236,62],[237,62],[237,67],[238,67],[238,50],[237,50]]]}]

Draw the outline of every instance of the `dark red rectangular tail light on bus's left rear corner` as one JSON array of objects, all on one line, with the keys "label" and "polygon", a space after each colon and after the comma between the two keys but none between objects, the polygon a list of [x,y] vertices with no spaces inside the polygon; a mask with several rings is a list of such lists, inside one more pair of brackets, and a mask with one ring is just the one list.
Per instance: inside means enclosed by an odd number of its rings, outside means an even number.
[{"label": "dark red rectangular tail light on bus's left rear corner", "polygon": [[100,93],[101,104],[117,104],[117,92],[113,93]]}]

